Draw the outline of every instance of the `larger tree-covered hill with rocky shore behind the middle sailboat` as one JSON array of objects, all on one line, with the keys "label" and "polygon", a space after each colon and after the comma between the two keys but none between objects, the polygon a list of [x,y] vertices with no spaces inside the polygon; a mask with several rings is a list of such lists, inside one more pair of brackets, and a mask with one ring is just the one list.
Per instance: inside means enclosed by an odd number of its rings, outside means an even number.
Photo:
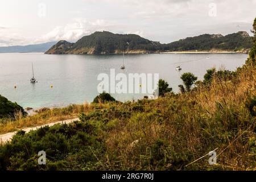
[{"label": "larger tree-covered hill with rocky shore behind the middle sailboat", "polygon": [[159,42],[141,38],[135,34],[113,34],[111,32],[94,32],[92,35],[84,36],[75,44],[61,40],[47,54],[111,54],[122,53],[124,50],[130,53],[143,53],[147,51],[157,51],[162,48]]}]

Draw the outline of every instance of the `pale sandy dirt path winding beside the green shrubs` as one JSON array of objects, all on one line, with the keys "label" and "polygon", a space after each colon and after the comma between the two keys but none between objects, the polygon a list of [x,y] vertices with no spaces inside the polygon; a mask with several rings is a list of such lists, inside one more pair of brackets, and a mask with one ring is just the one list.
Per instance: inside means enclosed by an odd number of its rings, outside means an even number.
[{"label": "pale sandy dirt path winding beside the green shrubs", "polygon": [[[22,129],[22,130],[26,131],[26,133],[27,133],[27,132],[32,131],[32,130],[37,130],[40,127],[53,126],[53,125],[56,125],[56,124],[64,124],[64,123],[69,124],[69,123],[72,123],[72,122],[78,121],[78,120],[79,120],[79,118],[68,119],[68,120],[65,120],[65,121],[57,121],[57,122],[53,122],[53,123],[48,123],[46,125],[36,126],[36,127],[27,127],[27,128]],[[10,141],[13,138],[13,136],[16,134],[16,132],[17,131],[0,135],[0,144],[6,143],[8,140]]]}]

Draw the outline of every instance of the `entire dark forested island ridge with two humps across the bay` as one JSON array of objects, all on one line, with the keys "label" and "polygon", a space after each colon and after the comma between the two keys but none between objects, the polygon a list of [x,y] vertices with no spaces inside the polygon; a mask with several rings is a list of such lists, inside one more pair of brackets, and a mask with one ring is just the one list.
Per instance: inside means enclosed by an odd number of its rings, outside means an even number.
[{"label": "entire dark forested island ridge with two humps across the bay", "polygon": [[253,37],[243,31],[226,36],[204,34],[181,39],[170,44],[161,44],[135,34],[122,35],[103,31],[84,36],[76,43],[61,40],[52,46],[46,54],[114,54],[123,51],[126,53],[168,51],[247,52],[252,45]]}]

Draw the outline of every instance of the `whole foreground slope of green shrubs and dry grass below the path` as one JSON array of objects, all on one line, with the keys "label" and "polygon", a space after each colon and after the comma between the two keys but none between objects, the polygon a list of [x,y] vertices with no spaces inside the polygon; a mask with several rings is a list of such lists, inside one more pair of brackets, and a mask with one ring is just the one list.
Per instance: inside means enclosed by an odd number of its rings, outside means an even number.
[{"label": "whole foreground slope of green shrubs and dry grass below the path", "polygon": [[[180,94],[162,81],[158,100],[99,97],[81,111],[80,121],[19,131],[0,147],[0,169],[256,170],[255,67],[254,46],[236,72],[211,69],[193,88],[196,77],[186,73]],[[42,150],[47,164],[40,166]],[[217,164],[210,166],[213,150]]]}]

